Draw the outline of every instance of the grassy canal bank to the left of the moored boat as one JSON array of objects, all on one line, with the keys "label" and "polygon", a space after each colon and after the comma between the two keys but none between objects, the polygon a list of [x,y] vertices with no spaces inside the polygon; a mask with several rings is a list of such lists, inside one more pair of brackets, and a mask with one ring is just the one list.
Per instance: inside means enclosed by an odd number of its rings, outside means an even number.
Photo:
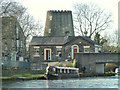
[{"label": "grassy canal bank to the left of the moored boat", "polygon": [[27,70],[27,69],[7,69],[2,70],[2,80],[32,80],[42,79],[45,71],[40,70]]}]

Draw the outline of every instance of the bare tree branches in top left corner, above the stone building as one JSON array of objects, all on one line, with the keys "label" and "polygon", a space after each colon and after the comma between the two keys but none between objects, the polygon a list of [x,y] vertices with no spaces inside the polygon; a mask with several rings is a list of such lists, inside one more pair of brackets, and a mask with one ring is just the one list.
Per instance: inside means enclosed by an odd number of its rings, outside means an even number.
[{"label": "bare tree branches in top left corner, above the stone building", "polygon": [[26,8],[18,2],[2,1],[1,4],[0,16],[21,17],[26,12]]}]

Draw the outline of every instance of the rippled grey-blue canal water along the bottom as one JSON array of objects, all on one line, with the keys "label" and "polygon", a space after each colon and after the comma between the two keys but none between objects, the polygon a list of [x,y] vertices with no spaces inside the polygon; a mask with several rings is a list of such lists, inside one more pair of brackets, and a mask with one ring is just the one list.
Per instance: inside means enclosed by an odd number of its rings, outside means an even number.
[{"label": "rippled grey-blue canal water along the bottom", "polygon": [[3,88],[118,88],[115,77],[85,77],[62,80],[3,81]]}]

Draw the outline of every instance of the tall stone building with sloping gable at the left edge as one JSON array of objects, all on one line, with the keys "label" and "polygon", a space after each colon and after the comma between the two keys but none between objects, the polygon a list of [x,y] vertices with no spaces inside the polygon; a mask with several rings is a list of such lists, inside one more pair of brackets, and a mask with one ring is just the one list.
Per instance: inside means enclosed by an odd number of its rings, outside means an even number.
[{"label": "tall stone building with sloping gable at the left edge", "polygon": [[[17,41],[19,42],[17,43]],[[14,17],[3,17],[2,60],[13,60],[13,57],[16,57],[15,60],[19,60],[19,57],[24,58],[25,54],[26,54],[25,36],[19,22]]]}]

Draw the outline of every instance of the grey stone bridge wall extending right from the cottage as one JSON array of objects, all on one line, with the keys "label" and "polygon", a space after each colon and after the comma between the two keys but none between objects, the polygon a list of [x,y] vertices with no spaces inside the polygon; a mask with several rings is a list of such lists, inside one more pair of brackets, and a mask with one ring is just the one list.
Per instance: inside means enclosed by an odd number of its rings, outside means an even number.
[{"label": "grey stone bridge wall extending right from the cottage", "polygon": [[96,65],[120,62],[120,53],[76,53],[79,67],[86,67],[86,72],[96,73]]}]

